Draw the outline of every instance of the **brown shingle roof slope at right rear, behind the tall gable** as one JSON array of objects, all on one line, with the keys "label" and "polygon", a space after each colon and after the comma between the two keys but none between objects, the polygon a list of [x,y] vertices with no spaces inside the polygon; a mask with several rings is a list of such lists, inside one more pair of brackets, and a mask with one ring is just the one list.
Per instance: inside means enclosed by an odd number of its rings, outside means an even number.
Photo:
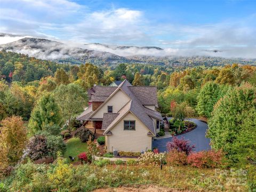
[{"label": "brown shingle roof slope at right rear, behind the tall gable", "polygon": [[140,100],[142,105],[157,106],[157,90],[155,86],[129,86],[129,89]]}]

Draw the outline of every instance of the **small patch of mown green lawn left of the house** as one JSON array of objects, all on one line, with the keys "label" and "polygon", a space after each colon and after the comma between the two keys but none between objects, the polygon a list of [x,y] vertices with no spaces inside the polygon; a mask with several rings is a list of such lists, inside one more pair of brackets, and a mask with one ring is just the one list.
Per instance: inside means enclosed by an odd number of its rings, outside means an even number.
[{"label": "small patch of mown green lawn left of the house", "polygon": [[85,151],[87,151],[86,143],[81,142],[78,138],[71,138],[67,141],[67,149],[64,157],[68,159],[68,156],[76,157],[75,160],[77,161],[77,155]]}]

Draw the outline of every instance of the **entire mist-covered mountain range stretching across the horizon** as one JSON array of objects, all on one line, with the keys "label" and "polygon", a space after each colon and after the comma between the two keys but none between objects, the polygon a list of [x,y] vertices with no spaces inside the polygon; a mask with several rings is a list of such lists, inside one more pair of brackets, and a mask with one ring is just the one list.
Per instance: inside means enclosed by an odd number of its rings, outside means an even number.
[{"label": "entire mist-covered mountain range stretching across the horizon", "polygon": [[[1,36],[18,38],[10,34]],[[81,64],[90,62],[95,65],[115,67],[119,63],[148,63],[151,65],[171,66],[173,68],[194,66],[222,66],[231,63],[256,65],[256,60],[225,59],[222,57],[193,56],[178,57],[165,49],[156,46],[116,46],[90,43],[75,47],[45,38],[25,37],[18,41],[1,44],[0,50],[28,54],[38,59],[52,60],[60,63]],[[203,50],[204,52],[220,53],[220,50]]]}]

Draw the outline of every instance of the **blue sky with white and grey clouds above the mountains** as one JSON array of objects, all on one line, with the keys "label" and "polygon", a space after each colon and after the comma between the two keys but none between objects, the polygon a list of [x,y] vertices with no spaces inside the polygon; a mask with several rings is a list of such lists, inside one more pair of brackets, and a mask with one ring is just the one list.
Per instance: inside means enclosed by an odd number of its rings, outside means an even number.
[{"label": "blue sky with white and grey clouds above the mountains", "polygon": [[256,1],[0,0],[0,32],[253,57]]}]

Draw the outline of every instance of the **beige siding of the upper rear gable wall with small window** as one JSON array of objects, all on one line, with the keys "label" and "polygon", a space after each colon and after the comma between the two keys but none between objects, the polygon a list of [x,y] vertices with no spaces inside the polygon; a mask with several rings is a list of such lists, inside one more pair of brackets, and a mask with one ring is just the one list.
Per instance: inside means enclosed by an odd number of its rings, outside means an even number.
[{"label": "beige siding of the upper rear gable wall with small window", "polygon": [[108,106],[113,106],[113,113],[117,113],[129,100],[128,95],[118,90],[92,117],[102,118],[104,113],[108,113]]}]

